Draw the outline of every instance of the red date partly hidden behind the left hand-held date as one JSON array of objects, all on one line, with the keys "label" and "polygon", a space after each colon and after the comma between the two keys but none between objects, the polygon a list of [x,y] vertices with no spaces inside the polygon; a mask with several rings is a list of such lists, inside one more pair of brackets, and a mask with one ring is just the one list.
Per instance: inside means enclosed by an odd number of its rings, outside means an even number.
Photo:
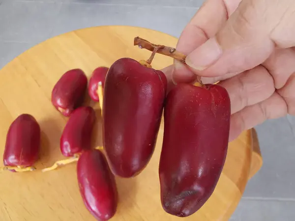
[{"label": "red date partly hidden behind the left hand-held date", "polygon": [[102,87],[104,87],[105,78],[108,70],[109,68],[107,67],[98,67],[92,72],[88,85],[88,93],[93,101],[99,102],[99,97],[97,94],[98,83],[101,82]]}]

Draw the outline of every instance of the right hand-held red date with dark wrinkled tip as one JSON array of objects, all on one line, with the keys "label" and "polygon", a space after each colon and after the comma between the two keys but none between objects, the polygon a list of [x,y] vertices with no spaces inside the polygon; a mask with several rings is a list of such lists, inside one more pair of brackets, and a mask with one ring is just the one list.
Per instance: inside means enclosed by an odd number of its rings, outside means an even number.
[{"label": "right hand-held red date with dark wrinkled tip", "polygon": [[199,210],[213,193],[229,142],[231,104],[220,85],[177,84],[164,107],[161,202],[174,216]]}]

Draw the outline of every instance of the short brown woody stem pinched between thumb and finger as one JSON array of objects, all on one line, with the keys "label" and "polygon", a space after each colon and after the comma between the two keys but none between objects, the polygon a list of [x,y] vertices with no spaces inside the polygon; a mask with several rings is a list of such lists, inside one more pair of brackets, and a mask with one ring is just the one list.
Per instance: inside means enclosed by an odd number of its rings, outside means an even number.
[{"label": "short brown woody stem pinched between thumb and finger", "polygon": [[175,59],[181,61],[182,63],[185,63],[186,56],[183,55],[182,53],[176,51],[175,48],[168,47],[165,45],[156,45],[156,44],[150,43],[149,41],[147,41],[143,38],[140,38],[140,37],[134,38],[134,45],[138,45],[138,47],[147,49],[148,51],[151,51],[151,52],[154,52],[155,48],[158,47],[159,49],[157,50],[156,53],[175,58]]}]

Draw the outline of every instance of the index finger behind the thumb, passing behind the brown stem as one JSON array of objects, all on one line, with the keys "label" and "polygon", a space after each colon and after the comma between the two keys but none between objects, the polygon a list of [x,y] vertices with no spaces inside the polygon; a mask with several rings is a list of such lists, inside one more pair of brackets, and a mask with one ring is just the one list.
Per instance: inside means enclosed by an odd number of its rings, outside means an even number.
[{"label": "index finger behind the thumb, passing behind the brown stem", "polygon": [[[182,31],[177,42],[177,51],[188,55],[214,36],[226,22],[240,0],[207,0]],[[190,83],[195,80],[193,72],[175,60],[174,82]]]}]

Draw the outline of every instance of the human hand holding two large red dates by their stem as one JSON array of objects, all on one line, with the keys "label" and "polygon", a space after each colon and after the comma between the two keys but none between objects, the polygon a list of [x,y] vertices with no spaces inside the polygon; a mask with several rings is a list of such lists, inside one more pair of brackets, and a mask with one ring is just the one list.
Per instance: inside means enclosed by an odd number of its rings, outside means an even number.
[{"label": "human hand holding two large red dates by their stem", "polygon": [[[229,17],[229,18],[228,18]],[[266,119],[295,115],[295,1],[207,0],[184,28],[175,83],[220,81],[231,98],[230,141]]]}]

